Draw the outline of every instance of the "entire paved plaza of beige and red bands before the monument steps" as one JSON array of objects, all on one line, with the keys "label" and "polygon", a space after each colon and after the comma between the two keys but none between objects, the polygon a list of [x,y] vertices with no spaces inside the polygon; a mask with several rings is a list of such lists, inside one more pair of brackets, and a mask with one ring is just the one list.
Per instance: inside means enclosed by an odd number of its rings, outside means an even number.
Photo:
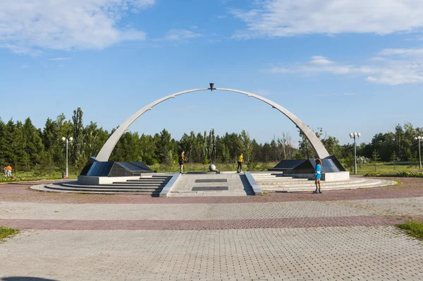
[{"label": "entire paved plaza of beige and red bands before the monument steps", "polygon": [[423,179],[263,196],[152,198],[0,185],[0,280],[422,280]]}]

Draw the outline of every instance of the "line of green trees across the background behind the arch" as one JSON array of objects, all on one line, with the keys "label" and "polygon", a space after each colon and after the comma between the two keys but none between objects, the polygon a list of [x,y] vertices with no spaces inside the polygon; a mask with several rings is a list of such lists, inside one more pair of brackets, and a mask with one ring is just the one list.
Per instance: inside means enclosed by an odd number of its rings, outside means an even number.
[{"label": "line of green trees across the background behind the arch", "polygon": [[[48,118],[44,128],[36,128],[30,118],[25,121],[4,122],[0,119],[0,165],[13,165],[15,170],[31,171],[39,175],[64,172],[66,163],[65,143],[62,137],[73,138],[69,143],[69,167],[80,172],[90,156],[99,153],[107,138],[114,133],[99,128],[97,123],[83,123],[83,111],[73,111],[71,119],[64,114],[56,119]],[[338,138],[327,136],[322,128],[315,131],[330,154],[336,155],[344,166],[353,163],[353,144],[341,145]],[[315,157],[312,146],[302,133],[300,140],[293,141],[289,133],[269,142],[257,143],[247,131],[225,133],[218,136],[214,129],[202,133],[184,133],[180,140],[172,138],[163,129],[154,136],[127,131],[116,144],[110,161],[145,162],[175,165],[181,150],[192,163],[231,163],[236,162],[239,153],[244,153],[245,162],[254,166],[257,162],[278,162],[283,159],[305,159]],[[423,128],[412,124],[398,124],[392,132],[377,133],[370,143],[357,144],[357,155],[390,162],[417,161],[417,141],[415,136],[423,136]],[[376,153],[376,155],[375,155]]]}]

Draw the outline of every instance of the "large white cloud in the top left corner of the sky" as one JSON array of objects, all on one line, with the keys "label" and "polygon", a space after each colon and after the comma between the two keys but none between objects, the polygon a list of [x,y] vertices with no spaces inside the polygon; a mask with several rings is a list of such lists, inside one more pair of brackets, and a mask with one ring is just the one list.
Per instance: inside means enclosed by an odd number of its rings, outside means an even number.
[{"label": "large white cloud in the top left corner of the sky", "polygon": [[0,47],[36,54],[40,49],[104,49],[118,42],[143,40],[145,32],[118,27],[118,23],[154,1],[0,0]]}]

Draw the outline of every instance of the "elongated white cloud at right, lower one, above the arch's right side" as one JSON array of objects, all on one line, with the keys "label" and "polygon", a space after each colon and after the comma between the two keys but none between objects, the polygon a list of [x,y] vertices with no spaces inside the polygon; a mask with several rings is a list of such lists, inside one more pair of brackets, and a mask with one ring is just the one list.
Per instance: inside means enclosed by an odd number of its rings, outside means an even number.
[{"label": "elongated white cloud at right, lower one, above the arch's right side", "polygon": [[306,63],[291,66],[271,66],[262,71],[270,73],[301,73],[317,75],[331,73],[343,76],[364,76],[370,83],[400,85],[423,83],[422,49],[384,49],[379,59],[370,59],[373,64],[354,65],[330,61],[324,56],[312,56]]}]

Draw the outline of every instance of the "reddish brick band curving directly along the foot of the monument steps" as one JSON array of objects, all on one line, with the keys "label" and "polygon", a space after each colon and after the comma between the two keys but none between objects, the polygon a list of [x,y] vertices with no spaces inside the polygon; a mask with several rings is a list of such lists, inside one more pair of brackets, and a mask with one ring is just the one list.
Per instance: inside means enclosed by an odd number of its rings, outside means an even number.
[{"label": "reddish brick band curving directly along the foot of the monument steps", "polygon": [[[379,178],[378,178],[379,179]],[[391,178],[380,178],[392,180]],[[48,184],[53,181],[35,183],[0,184],[0,200],[3,202],[44,202],[44,203],[142,203],[142,204],[192,204],[192,203],[247,203],[247,202],[286,202],[286,201],[338,201],[381,198],[410,198],[423,196],[423,179],[395,178],[401,181],[398,186],[374,187],[372,189],[350,189],[325,191],[322,196],[310,192],[267,193],[264,196],[204,197],[204,198],[152,198],[151,196],[126,194],[82,194],[40,192],[29,189],[31,185]]]}]

